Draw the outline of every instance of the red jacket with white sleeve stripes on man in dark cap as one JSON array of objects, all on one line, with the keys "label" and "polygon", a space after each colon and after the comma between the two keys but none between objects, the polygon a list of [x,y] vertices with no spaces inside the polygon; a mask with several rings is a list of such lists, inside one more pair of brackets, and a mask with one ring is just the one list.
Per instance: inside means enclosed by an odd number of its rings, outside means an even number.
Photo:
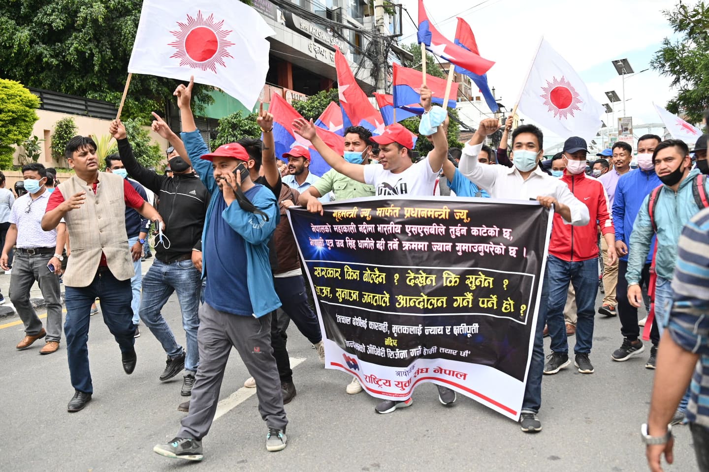
[{"label": "red jacket with white sleeve stripes on man in dark cap", "polygon": [[566,260],[579,262],[598,257],[598,229],[602,234],[615,234],[613,214],[608,205],[608,195],[603,184],[585,173],[570,174],[564,171],[562,180],[569,185],[574,197],[588,207],[591,221],[586,226],[565,224],[558,213],[554,213],[552,240],[549,241],[549,254]]}]

